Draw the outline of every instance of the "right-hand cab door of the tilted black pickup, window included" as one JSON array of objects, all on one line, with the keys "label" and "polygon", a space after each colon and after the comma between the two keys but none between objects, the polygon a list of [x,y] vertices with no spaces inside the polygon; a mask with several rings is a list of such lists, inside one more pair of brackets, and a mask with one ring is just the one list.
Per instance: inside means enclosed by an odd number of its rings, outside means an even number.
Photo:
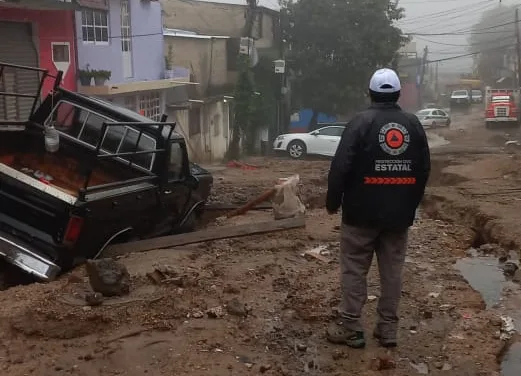
[{"label": "right-hand cab door of the tilted black pickup, window included", "polygon": [[161,199],[167,216],[178,222],[187,210],[190,188],[185,184],[189,175],[188,158],[184,144],[172,140],[167,150],[166,183],[161,188]]}]

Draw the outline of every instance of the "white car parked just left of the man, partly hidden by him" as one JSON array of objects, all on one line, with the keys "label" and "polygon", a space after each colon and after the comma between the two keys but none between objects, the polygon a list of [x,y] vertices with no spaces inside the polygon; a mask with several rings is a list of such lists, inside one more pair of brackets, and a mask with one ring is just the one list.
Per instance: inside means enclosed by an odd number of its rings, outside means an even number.
[{"label": "white car parked just left of the man, partly hidden by him", "polygon": [[288,133],[278,136],[273,142],[273,150],[287,152],[293,159],[305,155],[332,157],[336,153],[345,125],[332,125],[309,133]]}]

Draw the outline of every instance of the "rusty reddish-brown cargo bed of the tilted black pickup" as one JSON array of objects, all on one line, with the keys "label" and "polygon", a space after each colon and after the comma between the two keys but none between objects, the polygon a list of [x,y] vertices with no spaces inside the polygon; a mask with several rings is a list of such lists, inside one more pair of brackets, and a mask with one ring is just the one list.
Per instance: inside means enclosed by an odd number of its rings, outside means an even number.
[{"label": "rusty reddish-brown cargo bed of the tilted black pickup", "polygon": [[[11,142],[8,142],[9,139]],[[74,198],[77,198],[80,189],[84,188],[89,172],[87,169],[89,163],[86,163],[77,145],[68,145],[61,141],[58,152],[48,153],[43,145],[43,137],[28,137],[23,132],[2,132],[0,135],[0,163],[8,167],[8,169],[4,168],[4,172],[11,176],[15,170]],[[90,175],[88,186],[108,184],[140,176],[137,171],[117,167],[114,166],[114,162],[96,164]],[[41,184],[38,185],[41,186]]]}]

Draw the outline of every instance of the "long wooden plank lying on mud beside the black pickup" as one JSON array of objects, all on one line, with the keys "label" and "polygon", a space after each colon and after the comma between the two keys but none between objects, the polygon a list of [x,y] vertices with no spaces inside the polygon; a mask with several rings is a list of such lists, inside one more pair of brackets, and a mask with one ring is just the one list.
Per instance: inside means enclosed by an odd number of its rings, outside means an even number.
[{"label": "long wooden plank lying on mud beside the black pickup", "polygon": [[107,257],[120,256],[131,252],[144,252],[153,249],[173,248],[181,245],[203,243],[212,240],[230,239],[241,236],[285,231],[306,226],[304,217],[281,219],[260,223],[248,223],[238,226],[222,226],[186,234],[162,236],[130,243],[115,244],[106,249]]}]

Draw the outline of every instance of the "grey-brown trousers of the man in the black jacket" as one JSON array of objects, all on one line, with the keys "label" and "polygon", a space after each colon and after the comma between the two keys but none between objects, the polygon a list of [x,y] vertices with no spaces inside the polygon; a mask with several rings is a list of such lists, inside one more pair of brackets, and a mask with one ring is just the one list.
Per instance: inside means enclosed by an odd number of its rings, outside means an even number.
[{"label": "grey-brown trousers of the man in the black jacket", "polygon": [[367,273],[376,253],[380,273],[377,329],[386,338],[396,338],[407,234],[408,229],[390,231],[342,224],[340,312],[348,329],[363,331],[360,316],[367,301]]}]

